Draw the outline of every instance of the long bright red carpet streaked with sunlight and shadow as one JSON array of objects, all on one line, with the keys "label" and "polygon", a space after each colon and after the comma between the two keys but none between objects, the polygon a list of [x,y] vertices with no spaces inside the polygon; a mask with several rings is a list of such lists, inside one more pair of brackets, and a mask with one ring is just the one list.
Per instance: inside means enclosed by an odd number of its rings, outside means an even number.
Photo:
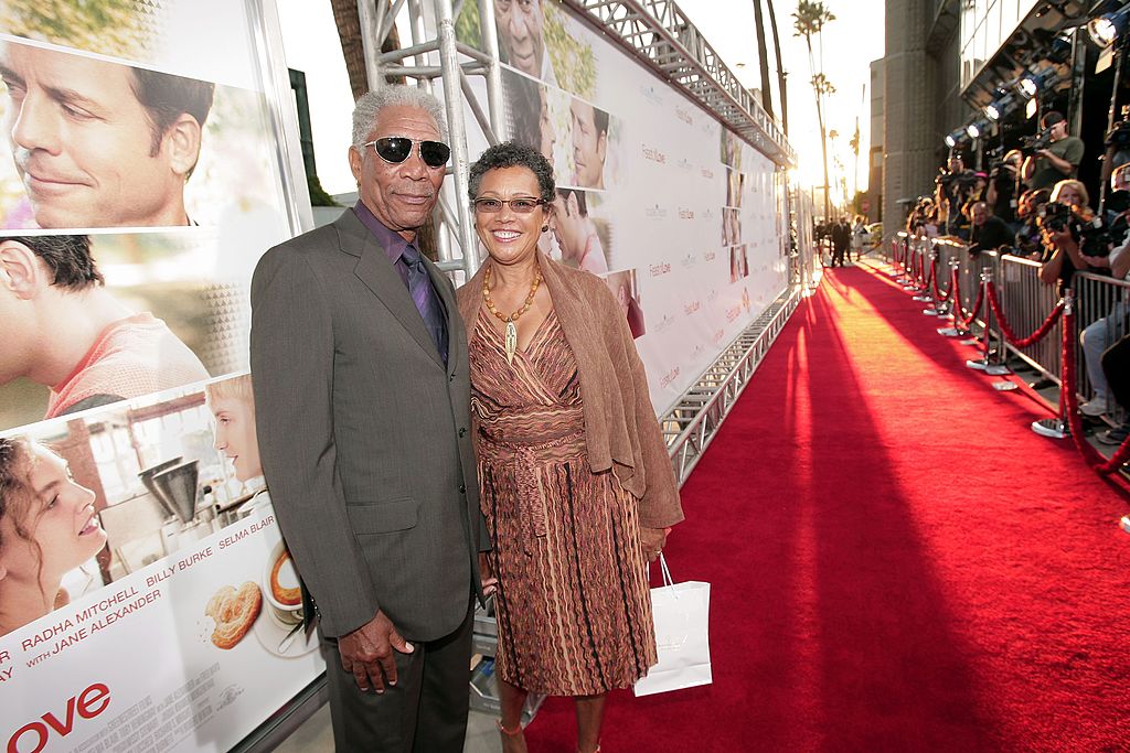
[{"label": "long bright red carpet streaked with sunlight and shadow", "polygon": [[[615,693],[623,751],[1130,750],[1121,493],[885,278],[832,270],[684,487],[714,684]],[[531,751],[573,751],[550,699]]]}]

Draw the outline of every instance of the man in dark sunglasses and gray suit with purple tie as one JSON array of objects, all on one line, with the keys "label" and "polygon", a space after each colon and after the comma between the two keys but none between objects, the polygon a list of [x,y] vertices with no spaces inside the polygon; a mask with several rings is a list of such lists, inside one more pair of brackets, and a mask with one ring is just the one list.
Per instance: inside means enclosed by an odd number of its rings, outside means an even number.
[{"label": "man in dark sunglasses and gray suit with purple tie", "polygon": [[481,598],[467,338],[415,245],[450,155],[438,102],[357,100],[360,201],[251,283],[260,455],[318,604],[339,751],[460,751]]}]

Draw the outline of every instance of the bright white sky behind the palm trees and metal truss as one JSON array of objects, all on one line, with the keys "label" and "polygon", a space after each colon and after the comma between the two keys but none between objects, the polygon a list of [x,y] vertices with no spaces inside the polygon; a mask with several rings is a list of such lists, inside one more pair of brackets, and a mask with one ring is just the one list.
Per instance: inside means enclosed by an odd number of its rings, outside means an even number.
[{"label": "bright white sky behind the palm trees and metal truss", "polygon": [[[760,73],[754,46],[756,26],[751,2],[748,0],[677,0],[677,2],[739,80],[747,87],[758,87]],[[330,3],[328,0],[318,2],[276,0],[276,3],[282,27],[287,65],[306,73],[318,174],[322,180],[322,186],[330,193],[353,191],[355,184],[346,161],[353,97],[349,93],[349,81]],[[836,88],[836,94],[827,100],[825,117],[827,130],[840,134],[837,139],[828,142],[828,169],[832,182],[835,183],[838,175],[835,157],[838,157],[846,170],[850,193],[854,187],[852,176],[855,160],[849,141],[855,130],[857,117],[861,133],[859,187],[863,190],[867,186],[867,154],[870,148],[871,124],[868,65],[872,60],[883,56],[884,3],[881,0],[825,0],[825,6],[836,16],[824,30],[824,70]],[[812,89],[809,86],[811,72],[808,68],[808,52],[805,41],[792,35],[792,12],[797,9],[797,3],[796,0],[777,0],[774,8],[781,36],[781,55],[784,59],[784,69],[789,73],[789,140],[799,155],[801,183],[823,184],[820,135]],[[776,60],[768,24],[766,12],[765,34],[766,44],[770,46],[770,76],[773,77],[775,87]],[[819,55],[819,52],[816,54]],[[777,113],[777,117],[780,116]],[[836,191],[833,190],[833,198],[836,195]]]}]

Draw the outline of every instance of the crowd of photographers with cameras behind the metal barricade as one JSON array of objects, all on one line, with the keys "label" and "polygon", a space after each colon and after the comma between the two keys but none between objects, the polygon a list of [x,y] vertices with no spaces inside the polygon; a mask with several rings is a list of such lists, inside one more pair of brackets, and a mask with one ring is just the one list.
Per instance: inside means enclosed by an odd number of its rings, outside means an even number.
[{"label": "crowd of photographers with cameras behind the metal barricade", "polygon": [[[1125,279],[1130,272],[1130,163],[1115,164],[1102,212],[1092,193],[1076,176],[1086,151],[1068,132],[1063,115],[1046,112],[1036,145],[1003,155],[989,173],[968,169],[960,154],[951,151],[940,172],[933,195],[921,196],[911,208],[906,233],[913,238],[949,238],[964,243],[970,254],[996,251],[1040,263],[1040,280],[1060,291],[1071,286],[1075,272],[1085,271]],[[1080,405],[1088,417],[1127,415],[1130,403],[1128,309],[1121,291],[1111,310],[1086,323],[1080,334],[1085,370],[1093,396]],[[1036,429],[1036,426],[1033,427]],[[1061,436],[1054,430],[1041,431]],[[1123,420],[1096,439],[1121,445],[1130,435]]]}]

